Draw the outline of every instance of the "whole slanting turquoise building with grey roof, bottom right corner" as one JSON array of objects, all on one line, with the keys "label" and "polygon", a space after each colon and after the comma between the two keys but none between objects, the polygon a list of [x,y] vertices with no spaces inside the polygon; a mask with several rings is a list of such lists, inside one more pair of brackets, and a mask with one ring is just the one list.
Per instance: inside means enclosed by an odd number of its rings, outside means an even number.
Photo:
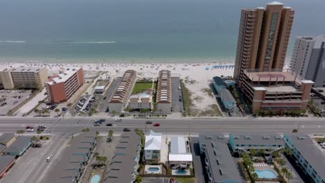
[{"label": "whole slanting turquoise building with grey roof, bottom right corner", "polygon": [[284,134],[285,146],[292,150],[303,173],[313,182],[325,182],[325,157],[307,134]]}]

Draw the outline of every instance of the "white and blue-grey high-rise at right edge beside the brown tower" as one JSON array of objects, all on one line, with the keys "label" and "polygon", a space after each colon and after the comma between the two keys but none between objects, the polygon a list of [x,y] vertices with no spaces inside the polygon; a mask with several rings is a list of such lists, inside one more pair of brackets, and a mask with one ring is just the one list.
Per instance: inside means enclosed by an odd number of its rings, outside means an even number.
[{"label": "white and blue-grey high-rise at right edge beside the brown tower", "polygon": [[297,37],[290,70],[313,80],[315,87],[325,86],[325,35]]}]

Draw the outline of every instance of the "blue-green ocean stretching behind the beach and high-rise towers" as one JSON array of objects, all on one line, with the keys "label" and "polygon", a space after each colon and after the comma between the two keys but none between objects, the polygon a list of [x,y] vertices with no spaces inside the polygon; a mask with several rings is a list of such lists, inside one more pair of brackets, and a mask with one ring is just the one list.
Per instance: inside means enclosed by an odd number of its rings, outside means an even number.
[{"label": "blue-green ocean stretching behind the beach and high-rise towers", "polygon": [[[0,0],[0,62],[234,62],[241,8],[265,0]],[[325,33],[324,0],[284,0],[297,35]]]}]

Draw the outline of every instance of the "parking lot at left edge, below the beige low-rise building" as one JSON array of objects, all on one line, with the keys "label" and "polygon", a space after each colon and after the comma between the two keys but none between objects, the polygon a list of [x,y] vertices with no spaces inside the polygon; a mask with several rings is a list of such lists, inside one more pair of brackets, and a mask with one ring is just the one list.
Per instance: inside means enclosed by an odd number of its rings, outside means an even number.
[{"label": "parking lot at left edge, below the beige low-rise building", "polygon": [[0,90],[0,115],[6,115],[9,110],[29,98],[32,90]]}]

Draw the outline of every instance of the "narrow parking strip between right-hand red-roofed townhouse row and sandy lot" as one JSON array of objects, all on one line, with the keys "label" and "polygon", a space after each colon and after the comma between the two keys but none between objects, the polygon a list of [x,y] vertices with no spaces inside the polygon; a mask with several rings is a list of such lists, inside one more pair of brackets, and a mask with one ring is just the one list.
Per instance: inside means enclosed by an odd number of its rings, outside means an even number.
[{"label": "narrow parking strip between right-hand red-roofed townhouse row and sandy lot", "polygon": [[178,89],[181,86],[179,77],[172,77],[172,112],[183,112],[182,91]]}]

